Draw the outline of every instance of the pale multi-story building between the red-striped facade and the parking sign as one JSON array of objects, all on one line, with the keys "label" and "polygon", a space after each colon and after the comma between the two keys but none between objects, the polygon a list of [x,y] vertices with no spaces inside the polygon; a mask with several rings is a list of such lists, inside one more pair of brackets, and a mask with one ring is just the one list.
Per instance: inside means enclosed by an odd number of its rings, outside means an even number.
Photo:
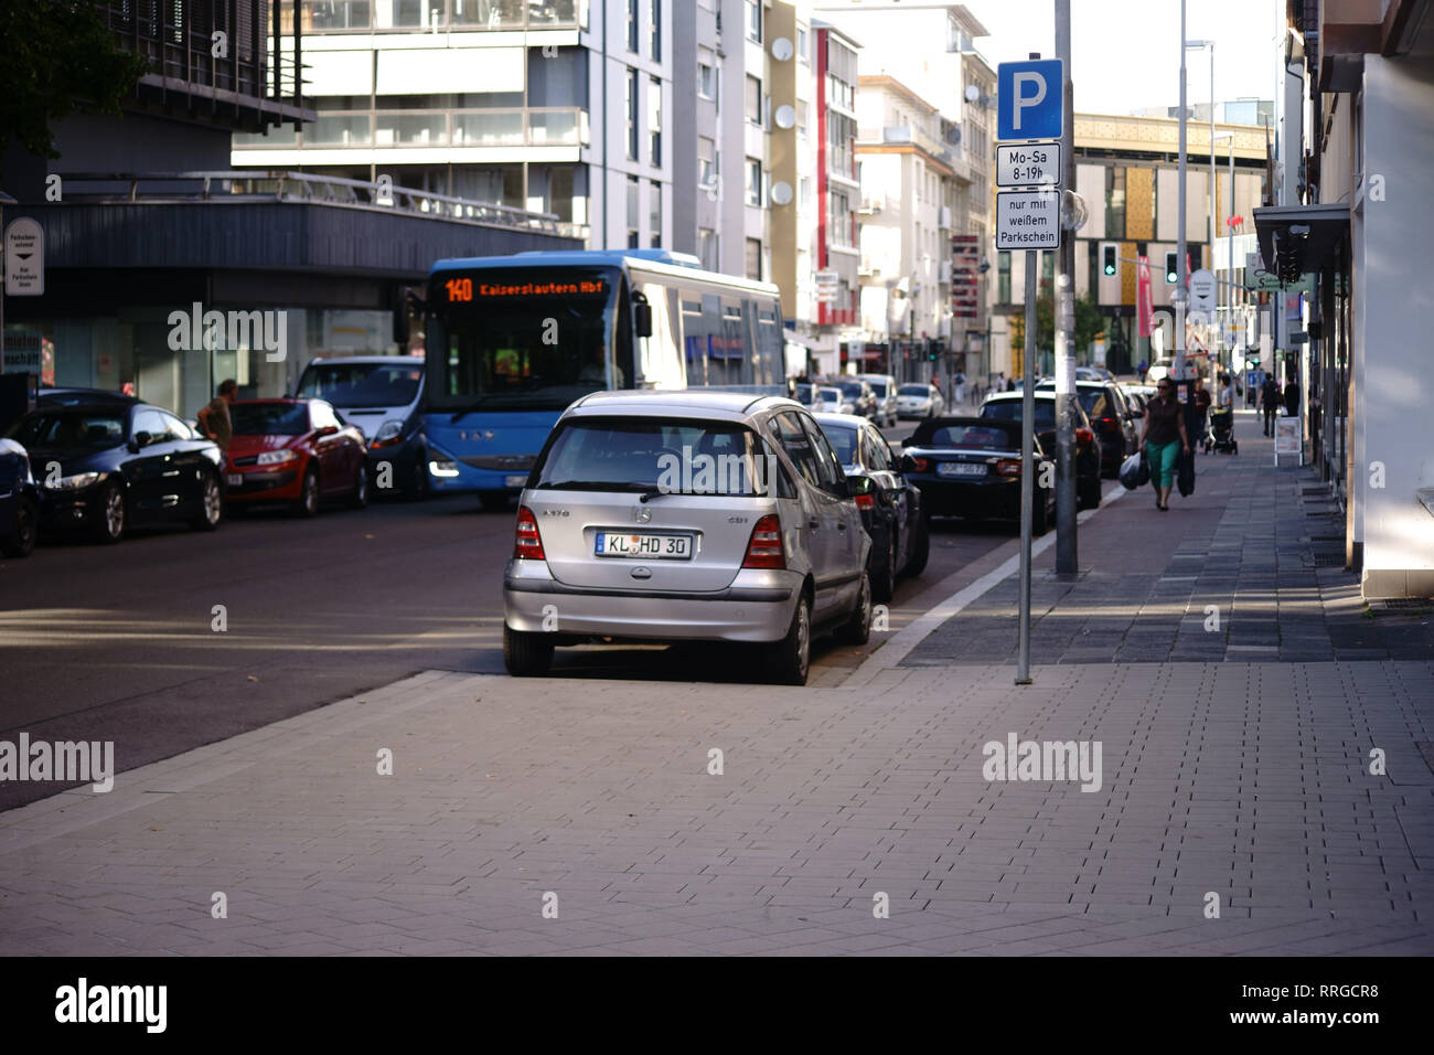
[{"label": "pale multi-story building between the red-striped facade and the parking sign", "polygon": [[[888,182],[903,168],[911,168],[908,191],[921,194],[902,207],[911,210],[903,225],[909,251],[901,251],[905,263],[899,264],[906,271],[862,277],[865,333],[859,336],[876,344],[896,343],[885,353],[896,373],[984,372],[991,283],[982,266],[992,253],[995,70],[979,55],[975,40],[989,33],[965,4],[817,0],[816,9],[823,19],[862,40],[863,82],[868,76],[885,79],[885,100],[873,103],[870,115],[886,123],[868,126],[865,112],[862,122],[859,151],[868,207],[903,197],[896,182]],[[893,155],[909,155],[912,161],[892,162]],[[875,161],[870,178],[868,159]],[[876,215],[868,211],[863,227],[868,222],[888,227]],[[875,235],[873,247],[892,237]],[[862,244],[865,250],[865,233]],[[882,255],[892,253],[889,247],[879,250]],[[929,277],[918,274],[925,270],[926,257]],[[906,301],[908,294],[912,303],[903,304],[902,320],[895,301]]]}]

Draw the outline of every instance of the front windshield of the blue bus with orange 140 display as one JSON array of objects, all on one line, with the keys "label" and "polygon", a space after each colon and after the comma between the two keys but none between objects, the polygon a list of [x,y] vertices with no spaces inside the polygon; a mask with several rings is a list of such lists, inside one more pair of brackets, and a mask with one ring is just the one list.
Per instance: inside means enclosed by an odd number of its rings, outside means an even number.
[{"label": "front windshield of the blue bus with orange 140 display", "polygon": [[[562,411],[608,388],[615,268],[442,271],[429,290],[427,399],[435,411]],[[627,388],[627,362],[614,388]]]}]

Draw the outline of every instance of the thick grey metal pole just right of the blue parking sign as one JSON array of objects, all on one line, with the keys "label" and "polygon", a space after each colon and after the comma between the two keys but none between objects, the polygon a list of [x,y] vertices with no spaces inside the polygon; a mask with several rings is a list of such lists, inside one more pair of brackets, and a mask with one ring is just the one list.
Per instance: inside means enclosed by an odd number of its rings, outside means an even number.
[{"label": "thick grey metal pole just right of the blue parking sign", "polygon": [[[1064,65],[1063,194],[1076,189],[1076,103],[1071,98],[1071,0],[1055,0],[1055,57]],[[1055,254],[1055,571],[1078,570],[1076,545],[1076,233],[1061,231]]]}]

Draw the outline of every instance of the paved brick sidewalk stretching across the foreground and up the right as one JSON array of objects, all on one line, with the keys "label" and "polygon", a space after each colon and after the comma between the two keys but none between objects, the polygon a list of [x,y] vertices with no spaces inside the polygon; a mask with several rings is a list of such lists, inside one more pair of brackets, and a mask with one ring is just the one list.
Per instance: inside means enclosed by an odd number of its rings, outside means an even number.
[{"label": "paved brick sidewalk stretching across the foreground and up the right", "polygon": [[[1434,663],[1384,617],[1341,637],[1344,573],[1304,568],[1255,458],[1087,518],[1031,686],[999,554],[842,686],[423,673],[0,815],[0,953],[1430,955]],[[1098,742],[1098,789],[988,779],[1010,735]]]}]

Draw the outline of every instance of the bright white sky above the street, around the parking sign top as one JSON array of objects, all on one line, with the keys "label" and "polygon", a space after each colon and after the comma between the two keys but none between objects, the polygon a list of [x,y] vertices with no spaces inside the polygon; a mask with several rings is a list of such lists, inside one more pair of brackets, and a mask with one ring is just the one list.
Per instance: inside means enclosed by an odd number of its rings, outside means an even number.
[{"label": "bright white sky above the street, around the parking sign top", "polygon": [[[965,0],[991,30],[977,49],[992,66],[1030,52],[1055,57],[1055,0]],[[1186,39],[1215,42],[1219,100],[1273,93],[1282,0],[1189,0]],[[1071,0],[1071,83],[1080,113],[1130,113],[1180,102],[1179,0]],[[1187,99],[1210,98],[1210,53],[1186,56]]]}]

